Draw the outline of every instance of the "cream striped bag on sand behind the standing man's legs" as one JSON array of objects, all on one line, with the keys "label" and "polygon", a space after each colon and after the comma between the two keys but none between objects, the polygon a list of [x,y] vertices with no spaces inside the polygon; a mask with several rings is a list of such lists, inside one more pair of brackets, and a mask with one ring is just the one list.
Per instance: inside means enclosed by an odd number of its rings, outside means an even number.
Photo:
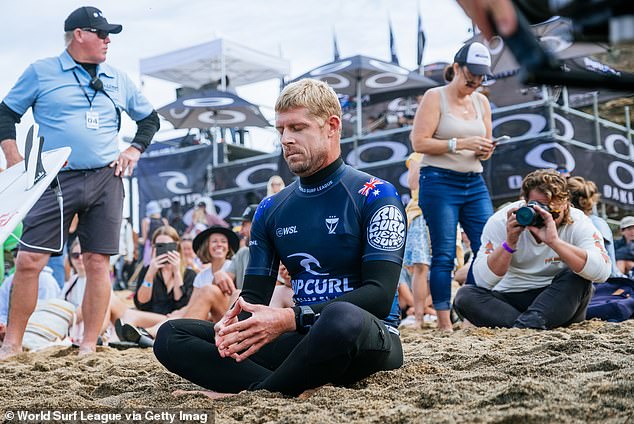
[{"label": "cream striped bag on sand behind the standing man's legs", "polygon": [[75,317],[75,305],[62,299],[38,301],[29,318],[22,346],[39,350],[57,344],[66,338]]}]

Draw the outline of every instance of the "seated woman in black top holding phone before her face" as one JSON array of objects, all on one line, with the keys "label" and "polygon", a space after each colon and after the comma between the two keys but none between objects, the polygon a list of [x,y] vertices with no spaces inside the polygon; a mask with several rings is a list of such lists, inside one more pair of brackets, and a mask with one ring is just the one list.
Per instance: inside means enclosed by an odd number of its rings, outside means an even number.
[{"label": "seated woman in black top holding phone before her face", "polygon": [[169,314],[189,302],[196,273],[182,259],[174,228],[157,229],[151,245],[150,264],[139,273],[134,304],[142,311]]}]

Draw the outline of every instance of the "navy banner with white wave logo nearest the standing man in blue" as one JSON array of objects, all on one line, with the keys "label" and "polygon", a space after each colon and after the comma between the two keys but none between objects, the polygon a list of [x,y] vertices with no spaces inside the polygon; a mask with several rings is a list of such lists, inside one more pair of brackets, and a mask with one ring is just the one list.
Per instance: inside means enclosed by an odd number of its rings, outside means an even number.
[{"label": "navy banner with white wave logo nearest the standing man in blue", "polygon": [[134,171],[139,186],[139,216],[145,216],[145,205],[151,200],[158,201],[162,208],[169,208],[173,201],[185,208],[193,206],[207,191],[212,155],[212,146],[203,145],[143,156]]}]

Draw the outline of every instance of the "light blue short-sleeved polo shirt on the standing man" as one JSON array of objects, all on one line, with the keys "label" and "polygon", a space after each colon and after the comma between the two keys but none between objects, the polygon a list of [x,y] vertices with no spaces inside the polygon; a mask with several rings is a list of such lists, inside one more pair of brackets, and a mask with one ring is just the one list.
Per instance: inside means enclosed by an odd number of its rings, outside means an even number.
[{"label": "light blue short-sleeved polo shirt on the standing man", "polygon": [[[102,63],[97,66],[97,76],[117,107],[130,118],[140,121],[152,113],[150,102],[125,73]],[[33,108],[44,150],[73,149],[64,169],[101,168],[119,156],[115,106],[104,93],[95,95],[90,80],[88,72],[64,50],[59,57],[31,64],[4,99],[20,115]],[[99,113],[98,129],[87,128],[86,112],[91,106],[84,91],[92,100],[92,111]]]}]

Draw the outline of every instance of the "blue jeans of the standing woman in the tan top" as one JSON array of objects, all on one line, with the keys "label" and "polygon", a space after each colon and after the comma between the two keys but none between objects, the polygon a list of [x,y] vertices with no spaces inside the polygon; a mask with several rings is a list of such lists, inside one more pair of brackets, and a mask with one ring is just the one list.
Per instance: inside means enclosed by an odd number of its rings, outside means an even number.
[{"label": "blue jeans of the standing woman in the tan top", "polygon": [[456,226],[462,225],[471,250],[480,249],[482,229],[493,215],[489,190],[482,175],[427,166],[420,171],[418,203],[429,228],[431,269],[429,288],[434,308],[451,307],[451,271],[456,257]]}]

